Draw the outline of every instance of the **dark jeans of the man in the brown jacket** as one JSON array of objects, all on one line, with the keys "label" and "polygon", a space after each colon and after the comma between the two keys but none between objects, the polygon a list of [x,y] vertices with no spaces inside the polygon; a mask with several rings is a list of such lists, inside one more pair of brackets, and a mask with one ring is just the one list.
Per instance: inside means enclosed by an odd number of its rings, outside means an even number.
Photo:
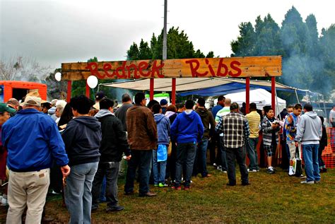
[{"label": "dark jeans of the man in the brown jacket", "polygon": [[139,194],[148,193],[152,157],[153,157],[152,150],[131,151],[131,159],[128,161],[124,192],[129,193],[134,191],[134,179],[136,175],[136,168],[139,167]]}]

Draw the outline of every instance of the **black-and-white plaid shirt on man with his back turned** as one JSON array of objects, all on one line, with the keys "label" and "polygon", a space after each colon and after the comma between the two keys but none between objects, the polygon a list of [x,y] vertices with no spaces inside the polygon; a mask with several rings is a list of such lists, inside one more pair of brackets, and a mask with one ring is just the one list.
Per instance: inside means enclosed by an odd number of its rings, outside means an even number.
[{"label": "black-and-white plaid shirt on man with his back turned", "polygon": [[249,139],[249,124],[247,117],[236,112],[220,118],[216,132],[223,133],[223,143],[226,148],[240,148]]}]

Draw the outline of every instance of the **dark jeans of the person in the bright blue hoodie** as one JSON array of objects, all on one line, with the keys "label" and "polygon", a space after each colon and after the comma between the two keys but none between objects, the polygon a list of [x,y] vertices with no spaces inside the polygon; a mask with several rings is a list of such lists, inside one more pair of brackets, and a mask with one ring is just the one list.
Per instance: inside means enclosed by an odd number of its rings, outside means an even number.
[{"label": "dark jeans of the person in the bright blue hoodie", "polygon": [[176,161],[176,182],[175,187],[180,187],[182,183],[182,167],[185,164],[185,187],[191,184],[191,177],[196,156],[196,143],[178,143],[177,145],[177,161]]}]

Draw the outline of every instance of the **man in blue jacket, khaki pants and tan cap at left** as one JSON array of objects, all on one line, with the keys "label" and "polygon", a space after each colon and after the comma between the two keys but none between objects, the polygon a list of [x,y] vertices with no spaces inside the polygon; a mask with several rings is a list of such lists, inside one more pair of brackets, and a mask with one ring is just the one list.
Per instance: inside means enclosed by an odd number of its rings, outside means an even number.
[{"label": "man in blue jacket, khaki pants and tan cap at left", "polygon": [[52,159],[69,175],[69,159],[56,123],[40,112],[41,98],[25,98],[23,110],[2,126],[2,141],[8,151],[10,170],[6,223],[21,223],[27,209],[26,223],[40,223],[49,187]]}]

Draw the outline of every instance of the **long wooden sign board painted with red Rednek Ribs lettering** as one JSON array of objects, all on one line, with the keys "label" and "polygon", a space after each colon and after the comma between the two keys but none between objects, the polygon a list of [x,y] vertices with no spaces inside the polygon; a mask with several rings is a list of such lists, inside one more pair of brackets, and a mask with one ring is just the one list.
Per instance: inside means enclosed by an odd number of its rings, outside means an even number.
[{"label": "long wooden sign board painted with red Rednek Ribs lettering", "polygon": [[61,64],[64,80],[281,76],[281,56],[100,61]]}]

